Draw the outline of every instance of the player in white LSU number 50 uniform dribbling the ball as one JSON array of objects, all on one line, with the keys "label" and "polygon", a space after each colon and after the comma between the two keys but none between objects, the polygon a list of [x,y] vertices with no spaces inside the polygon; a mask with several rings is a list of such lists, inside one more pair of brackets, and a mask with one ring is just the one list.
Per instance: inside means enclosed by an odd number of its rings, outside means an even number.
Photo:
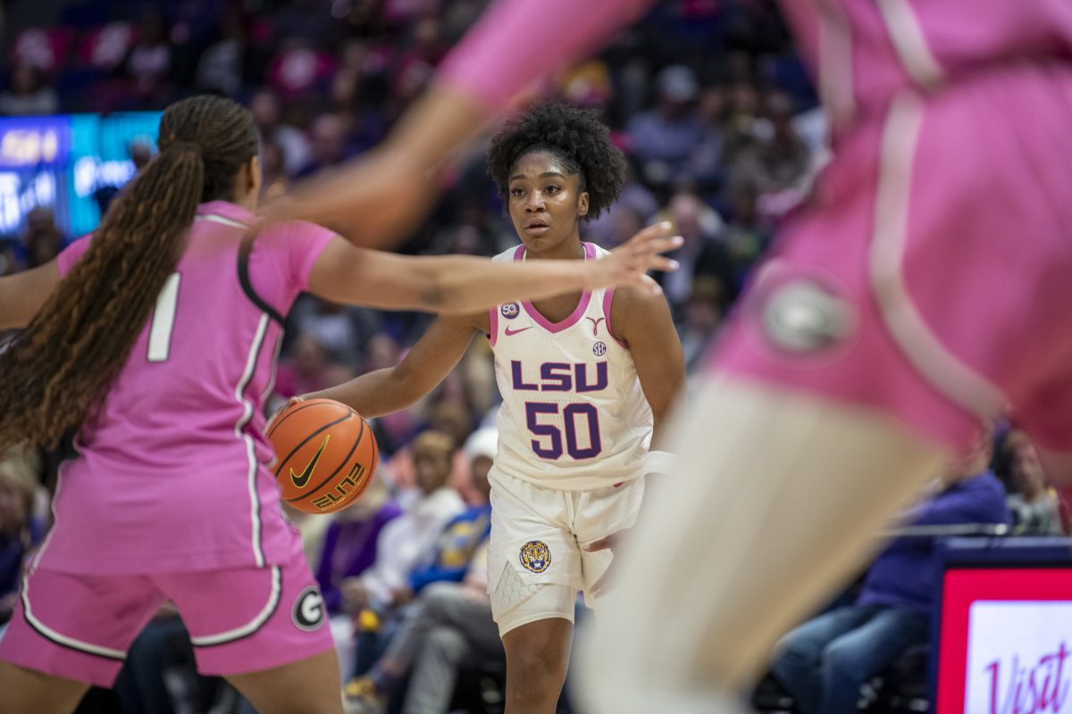
[{"label": "player in white LSU number 50 uniform dribbling the ball", "polygon": [[[626,167],[594,115],[533,109],[494,138],[488,170],[522,241],[495,260],[606,255],[579,227],[617,198]],[[364,416],[398,411],[453,369],[476,332],[489,336],[503,395],[488,587],[506,648],[507,712],[550,714],[577,592],[599,609],[593,586],[612,559],[608,545],[634,525],[644,475],[671,460],[650,447],[682,389],[684,359],[661,294],[593,290],[441,317],[397,367],[307,396]]]}]

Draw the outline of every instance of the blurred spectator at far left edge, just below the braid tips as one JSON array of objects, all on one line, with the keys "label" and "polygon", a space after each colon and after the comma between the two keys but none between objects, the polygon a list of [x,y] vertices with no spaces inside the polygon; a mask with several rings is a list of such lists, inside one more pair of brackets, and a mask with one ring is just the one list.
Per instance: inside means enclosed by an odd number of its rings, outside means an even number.
[{"label": "blurred spectator at far left edge, just below the braid tips", "polygon": [[33,517],[36,480],[16,454],[0,460],[0,634],[18,596],[23,564],[47,526]]}]

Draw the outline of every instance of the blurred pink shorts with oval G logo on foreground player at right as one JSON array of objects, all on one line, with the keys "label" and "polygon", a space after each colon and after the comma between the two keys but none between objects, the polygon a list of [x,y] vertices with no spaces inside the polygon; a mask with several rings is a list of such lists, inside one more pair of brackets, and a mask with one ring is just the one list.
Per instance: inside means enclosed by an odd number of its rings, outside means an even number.
[{"label": "blurred pink shorts with oval G logo on foreground player at right", "polygon": [[958,450],[1010,414],[1072,452],[1070,115],[1072,66],[1023,63],[847,131],[712,366]]}]

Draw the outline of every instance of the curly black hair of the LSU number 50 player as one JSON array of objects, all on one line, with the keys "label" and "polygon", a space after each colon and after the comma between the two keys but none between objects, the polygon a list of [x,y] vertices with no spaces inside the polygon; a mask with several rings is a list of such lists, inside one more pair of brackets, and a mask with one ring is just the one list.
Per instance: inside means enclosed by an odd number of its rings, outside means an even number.
[{"label": "curly black hair of the LSU number 50 player", "polygon": [[611,143],[610,132],[594,111],[566,104],[541,104],[509,120],[491,140],[488,176],[504,201],[509,201],[510,171],[518,159],[533,151],[549,151],[571,174],[580,174],[581,191],[589,192],[592,219],[617,200],[625,183],[625,156]]}]

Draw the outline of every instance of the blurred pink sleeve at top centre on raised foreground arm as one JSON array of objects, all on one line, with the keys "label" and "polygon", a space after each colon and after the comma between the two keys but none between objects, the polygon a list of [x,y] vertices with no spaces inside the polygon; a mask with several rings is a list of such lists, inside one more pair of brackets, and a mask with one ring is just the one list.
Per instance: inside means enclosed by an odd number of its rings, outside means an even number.
[{"label": "blurred pink sleeve at top centre on raised foreground arm", "polygon": [[598,49],[653,0],[497,0],[440,77],[493,108],[531,81]]}]

